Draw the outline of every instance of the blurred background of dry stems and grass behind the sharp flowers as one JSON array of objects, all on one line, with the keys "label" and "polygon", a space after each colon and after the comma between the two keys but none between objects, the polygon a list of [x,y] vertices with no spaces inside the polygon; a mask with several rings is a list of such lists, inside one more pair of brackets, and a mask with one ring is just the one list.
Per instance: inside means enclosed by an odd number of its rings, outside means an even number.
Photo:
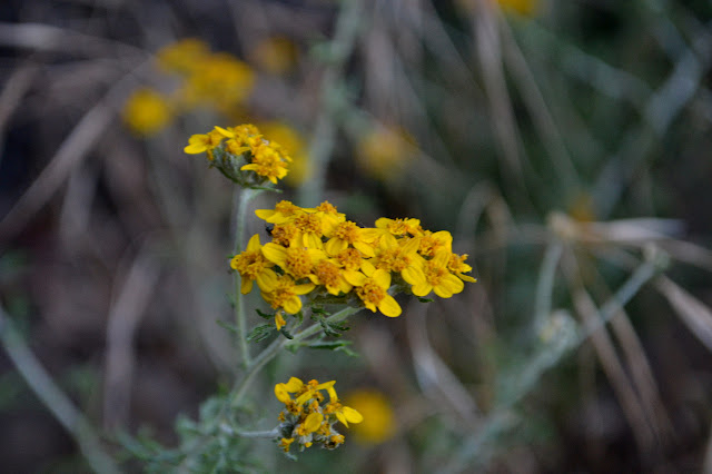
[{"label": "blurred background of dry stems and grass behind the sharp flowers", "polygon": [[4,0],[2,471],[88,472],[61,413],[175,446],[231,384],[236,192],[182,148],[251,122],[295,158],[255,208],[418,218],[478,283],[270,364],[256,429],[291,375],[366,422],[248,472],[710,472],[711,62],[706,0]]}]

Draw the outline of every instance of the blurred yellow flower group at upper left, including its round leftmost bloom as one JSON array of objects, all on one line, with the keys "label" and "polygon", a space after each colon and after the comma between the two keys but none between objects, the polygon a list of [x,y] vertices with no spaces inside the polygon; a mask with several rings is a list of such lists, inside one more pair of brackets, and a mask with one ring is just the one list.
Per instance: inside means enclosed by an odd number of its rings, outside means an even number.
[{"label": "blurred yellow flower group at upper left, including its round leftmost bloom", "polygon": [[140,88],[129,97],[125,122],[144,136],[160,131],[174,115],[200,107],[238,115],[255,83],[255,71],[247,63],[226,52],[212,52],[195,38],[161,49],[156,62],[160,70],[178,78],[178,85],[171,93]]}]

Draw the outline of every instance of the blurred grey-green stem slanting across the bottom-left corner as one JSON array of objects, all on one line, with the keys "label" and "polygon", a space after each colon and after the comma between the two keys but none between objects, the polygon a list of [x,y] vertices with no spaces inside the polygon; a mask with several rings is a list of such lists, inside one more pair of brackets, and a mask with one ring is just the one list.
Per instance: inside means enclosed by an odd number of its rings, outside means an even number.
[{"label": "blurred grey-green stem slanting across the bottom-left corner", "polygon": [[24,344],[18,330],[0,307],[0,342],[32,392],[71,434],[81,454],[97,473],[119,473],[116,463],[101,447],[99,436],[69,397],[55,384],[52,377]]}]

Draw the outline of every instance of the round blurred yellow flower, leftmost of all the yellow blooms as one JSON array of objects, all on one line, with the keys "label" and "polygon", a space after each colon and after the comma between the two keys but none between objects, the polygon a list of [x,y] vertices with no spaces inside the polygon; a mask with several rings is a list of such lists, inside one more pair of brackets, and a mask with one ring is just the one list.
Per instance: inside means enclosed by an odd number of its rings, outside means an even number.
[{"label": "round blurred yellow flower, leftmost of all the yellow blooms", "polygon": [[134,132],[149,136],[160,131],[170,122],[172,110],[159,92],[141,88],[127,100],[122,118]]}]

